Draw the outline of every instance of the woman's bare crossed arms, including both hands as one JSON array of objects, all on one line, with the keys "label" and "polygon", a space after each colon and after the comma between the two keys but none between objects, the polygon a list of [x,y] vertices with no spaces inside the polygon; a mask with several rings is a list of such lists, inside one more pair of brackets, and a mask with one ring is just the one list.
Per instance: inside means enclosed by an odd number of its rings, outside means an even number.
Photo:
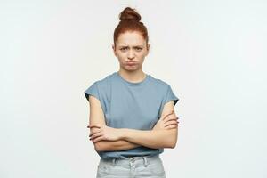
[{"label": "woman's bare crossed arms, including both hands", "polygon": [[174,113],[174,102],[165,104],[162,115],[152,130],[112,128],[106,125],[100,101],[89,95],[89,125],[94,150],[129,150],[145,146],[152,149],[174,148],[177,142],[178,121]]}]

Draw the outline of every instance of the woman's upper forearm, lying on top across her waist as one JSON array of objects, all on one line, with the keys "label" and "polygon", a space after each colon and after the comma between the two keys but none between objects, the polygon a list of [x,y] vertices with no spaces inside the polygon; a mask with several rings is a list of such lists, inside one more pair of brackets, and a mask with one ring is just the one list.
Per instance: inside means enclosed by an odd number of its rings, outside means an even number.
[{"label": "woman's upper forearm, lying on top across her waist", "polygon": [[120,132],[123,140],[151,149],[174,148],[177,141],[177,129],[144,131],[122,128]]}]

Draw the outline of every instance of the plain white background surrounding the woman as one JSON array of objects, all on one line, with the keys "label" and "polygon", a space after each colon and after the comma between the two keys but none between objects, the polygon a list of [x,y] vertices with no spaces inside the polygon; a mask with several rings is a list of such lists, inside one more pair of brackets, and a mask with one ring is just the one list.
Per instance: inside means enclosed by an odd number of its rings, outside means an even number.
[{"label": "plain white background surrounding the woman", "polygon": [[166,177],[267,177],[264,0],[1,1],[0,177],[95,176],[84,91],[118,70],[127,5],[149,30],[144,72],[180,99]]}]

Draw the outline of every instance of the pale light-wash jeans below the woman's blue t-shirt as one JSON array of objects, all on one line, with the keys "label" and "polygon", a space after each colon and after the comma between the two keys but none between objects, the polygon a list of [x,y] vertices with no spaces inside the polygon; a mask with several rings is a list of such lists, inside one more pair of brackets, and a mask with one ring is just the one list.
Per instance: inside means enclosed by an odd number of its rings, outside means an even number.
[{"label": "pale light-wash jeans below the woman's blue t-shirt", "polygon": [[96,178],[166,178],[159,155],[100,159]]}]

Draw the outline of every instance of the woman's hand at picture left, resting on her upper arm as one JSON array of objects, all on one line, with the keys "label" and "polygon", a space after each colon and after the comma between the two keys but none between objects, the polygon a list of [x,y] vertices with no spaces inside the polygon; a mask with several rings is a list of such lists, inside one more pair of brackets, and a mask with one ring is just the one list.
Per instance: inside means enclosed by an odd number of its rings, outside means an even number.
[{"label": "woman's hand at picture left, resting on her upper arm", "polygon": [[121,134],[117,128],[112,128],[107,125],[89,125],[88,127],[96,127],[96,129],[93,129],[92,133],[89,134],[91,142],[99,142],[102,140],[117,141],[121,138]]}]

